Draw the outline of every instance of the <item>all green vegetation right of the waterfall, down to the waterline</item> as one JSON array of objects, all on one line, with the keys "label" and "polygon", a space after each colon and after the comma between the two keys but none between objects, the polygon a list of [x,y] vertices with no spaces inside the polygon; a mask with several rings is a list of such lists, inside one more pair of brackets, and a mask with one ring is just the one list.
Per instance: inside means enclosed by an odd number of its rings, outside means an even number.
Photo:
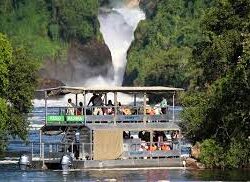
[{"label": "all green vegetation right of the waterfall, down to the waterline", "polygon": [[143,0],[125,85],[187,88],[183,130],[207,167],[249,165],[249,0]]}]

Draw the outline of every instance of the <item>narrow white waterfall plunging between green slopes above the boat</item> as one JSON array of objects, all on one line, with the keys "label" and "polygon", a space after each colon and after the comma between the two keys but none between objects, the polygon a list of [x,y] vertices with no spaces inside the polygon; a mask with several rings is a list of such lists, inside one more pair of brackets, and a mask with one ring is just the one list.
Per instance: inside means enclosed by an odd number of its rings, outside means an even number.
[{"label": "narrow white waterfall plunging between green slopes above the boat", "polygon": [[[108,83],[120,86],[127,63],[127,51],[134,39],[134,31],[138,23],[145,19],[145,14],[138,6],[117,4],[109,11],[100,11],[98,19],[114,66],[114,79]],[[105,82],[105,79],[103,81]]]}]

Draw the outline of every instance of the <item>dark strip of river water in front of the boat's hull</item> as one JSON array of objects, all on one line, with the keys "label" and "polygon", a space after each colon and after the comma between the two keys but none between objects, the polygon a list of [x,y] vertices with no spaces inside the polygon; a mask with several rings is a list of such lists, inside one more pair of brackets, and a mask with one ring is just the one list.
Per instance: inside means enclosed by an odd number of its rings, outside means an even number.
[{"label": "dark strip of river water in front of the boat's hull", "polygon": [[249,170],[115,169],[81,171],[21,171],[0,165],[0,181],[247,181]]}]

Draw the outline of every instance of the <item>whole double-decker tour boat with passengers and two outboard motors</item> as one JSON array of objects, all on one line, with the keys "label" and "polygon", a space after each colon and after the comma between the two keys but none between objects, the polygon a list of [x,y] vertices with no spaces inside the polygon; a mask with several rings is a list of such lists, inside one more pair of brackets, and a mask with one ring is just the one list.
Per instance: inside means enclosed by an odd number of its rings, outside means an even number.
[{"label": "whole double-decker tour boat with passengers and two outboard motors", "polygon": [[[45,123],[40,142],[20,157],[22,169],[106,169],[138,167],[182,167],[181,129],[175,97],[182,88],[173,87],[68,87],[38,90],[44,94]],[[119,93],[132,102],[121,104]],[[53,107],[50,97],[74,94],[75,103]],[[102,103],[89,106],[87,96],[99,96]],[[168,95],[171,106],[161,112],[150,106],[148,97]],[[108,97],[114,104],[108,105]],[[79,105],[79,96],[83,104]],[[92,99],[93,100],[93,99]],[[65,103],[66,105],[66,103]],[[96,112],[96,111],[100,112]],[[152,113],[152,111],[158,111]],[[177,137],[174,137],[176,134]],[[50,137],[60,135],[60,142]],[[46,140],[44,138],[46,137]]]}]

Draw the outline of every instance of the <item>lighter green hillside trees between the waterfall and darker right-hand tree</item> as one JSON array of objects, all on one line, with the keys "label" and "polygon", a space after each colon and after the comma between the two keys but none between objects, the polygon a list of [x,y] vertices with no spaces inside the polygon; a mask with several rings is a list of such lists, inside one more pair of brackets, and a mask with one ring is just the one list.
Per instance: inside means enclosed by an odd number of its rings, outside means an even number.
[{"label": "lighter green hillside trees between the waterfall and darker right-hand tree", "polygon": [[200,20],[209,0],[146,0],[142,21],[128,52],[124,85],[187,87],[193,72],[187,65],[202,38]]}]

